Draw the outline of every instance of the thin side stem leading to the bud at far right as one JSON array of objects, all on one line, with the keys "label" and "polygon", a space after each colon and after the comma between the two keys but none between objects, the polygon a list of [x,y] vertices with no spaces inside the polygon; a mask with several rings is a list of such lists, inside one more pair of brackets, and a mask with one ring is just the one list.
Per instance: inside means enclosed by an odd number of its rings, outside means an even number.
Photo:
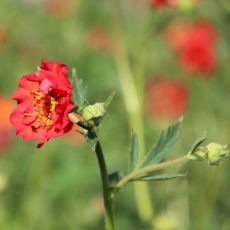
[{"label": "thin side stem leading to the bud at far right", "polygon": [[127,184],[129,181],[131,181],[133,178],[135,178],[135,177],[139,177],[139,176],[142,176],[143,174],[150,173],[150,172],[153,172],[153,171],[157,171],[157,170],[167,168],[167,167],[170,167],[170,166],[173,166],[173,165],[177,165],[177,164],[180,164],[180,163],[185,163],[188,160],[189,160],[188,157],[184,156],[184,157],[180,157],[180,158],[177,158],[177,159],[174,159],[174,160],[171,160],[171,161],[166,161],[166,162],[163,162],[163,163],[150,165],[150,166],[147,166],[147,167],[144,167],[144,168],[137,169],[137,170],[131,172],[130,174],[126,175],[125,177],[123,177],[116,184],[116,187],[121,188],[125,184]]}]

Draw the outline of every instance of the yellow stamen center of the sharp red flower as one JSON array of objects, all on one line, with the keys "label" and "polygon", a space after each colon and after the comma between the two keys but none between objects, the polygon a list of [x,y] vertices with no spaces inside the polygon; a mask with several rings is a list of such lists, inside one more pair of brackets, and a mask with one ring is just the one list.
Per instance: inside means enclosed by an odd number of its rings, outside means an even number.
[{"label": "yellow stamen center of the sharp red flower", "polygon": [[34,94],[34,114],[37,115],[37,119],[33,126],[39,128],[53,125],[54,121],[51,119],[51,115],[58,104],[57,99],[41,92],[34,92]]}]

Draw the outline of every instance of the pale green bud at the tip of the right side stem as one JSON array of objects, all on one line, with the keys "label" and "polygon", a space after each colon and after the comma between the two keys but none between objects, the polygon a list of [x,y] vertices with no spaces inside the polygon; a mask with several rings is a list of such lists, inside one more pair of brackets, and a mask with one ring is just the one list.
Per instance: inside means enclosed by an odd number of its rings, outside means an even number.
[{"label": "pale green bud at the tip of the right side stem", "polygon": [[207,145],[208,163],[210,165],[218,165],[226,156],[229,156],[227,146],[217,143],[210,143]]}]

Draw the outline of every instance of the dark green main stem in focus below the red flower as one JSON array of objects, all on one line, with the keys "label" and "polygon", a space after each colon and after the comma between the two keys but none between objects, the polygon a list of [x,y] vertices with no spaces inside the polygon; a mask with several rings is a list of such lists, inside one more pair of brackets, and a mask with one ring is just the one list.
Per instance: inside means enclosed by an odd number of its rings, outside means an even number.
[{"label": "dark green main stem in focus below the red flower", "polygon": [[100,167],[102,189],[103,189],[103,198],[105,206],[105,224],[107,230],[114,230],[114,220],[113,220],[113,208],[112,208],[112,196],[109,192],[109,181],[108,173],[105,164],[105,159],[102,151],[101,144],[99,140],[96,143],[95,153],[97,155],[98,164]]}]

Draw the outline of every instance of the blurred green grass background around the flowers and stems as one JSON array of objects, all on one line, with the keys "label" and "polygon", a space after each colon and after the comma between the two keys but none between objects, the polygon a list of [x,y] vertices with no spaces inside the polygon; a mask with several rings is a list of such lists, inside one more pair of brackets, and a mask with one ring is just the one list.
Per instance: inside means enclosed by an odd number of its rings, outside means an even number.
[{"label": "blurred green grass background around the flowers and stems", "polygon": [[[112,6],[105,0],[100,4],[67,0],[67,5],[72,4],[71,9],[60,13],[60,10],[47,9],[44,2],[0,1],[0,28],[6,31],[6,40],[0,48],[0,94],[10,97],[18,79],[36,71],[42,59],[76,67],[88,86],[92,102],[105,100],[115,90],[100,137],[109,170],[125,173],[128,117],[111,47],[92,48],[88,40],[89,31],[95,26],[104,27],[112,36]],[[185,114],[180,153],[187,151],[203,130],[208,131],[209,141],[229,143],[229,13],[211,0],[190,11],[156,11],[145,1],[134,0],[121,2],[120,7],[123,37],[135,81],[160,73],[183,79],[189,89],[190,105]],[[162,41],[161,32],[180,17],[206,17],[216,25],[218,69],[212,77],[186,76]],[[144,118],[148,149],[164,125],[147,115]],[[12,138],[12,144],[1,152],[0,159],[0,174],[6,179],[5,188],[0,191],[0,229],[103,229],[99,170],[87,145],[70,143],[67,137],[61,137],[37,150],[33,141]],[[229,229],[229,166],[228,160],[219,167],[189,164],[180,169],[188,172],[187,179],[152,183],[156,217],[170,214],[178,222],[176,229],[185,226]],[[183,213],[187,213],[187,223],[181,220]],[[150,229],[138,218],[131,186],[118,195],[115,214],[117,229]]]}]

